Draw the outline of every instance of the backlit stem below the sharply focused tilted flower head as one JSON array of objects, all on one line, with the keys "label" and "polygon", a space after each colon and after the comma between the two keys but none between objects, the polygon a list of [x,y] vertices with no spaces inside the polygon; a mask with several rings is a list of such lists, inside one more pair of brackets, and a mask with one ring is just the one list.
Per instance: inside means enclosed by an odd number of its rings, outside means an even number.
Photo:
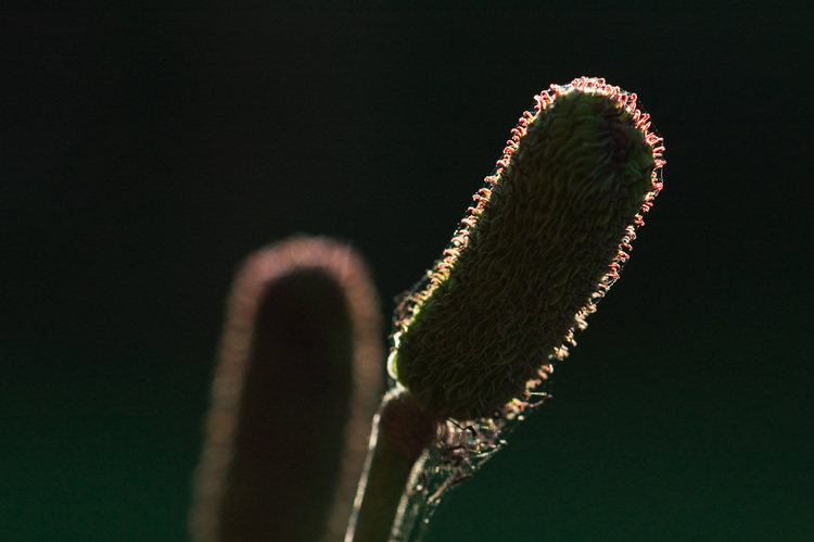
[{"label": "backlit stem below the sharply focused tilted flower head", "polygon": [[382,400],[346,542],[386,542],[416,461],[435,438],[436,420],[404,389]]}]

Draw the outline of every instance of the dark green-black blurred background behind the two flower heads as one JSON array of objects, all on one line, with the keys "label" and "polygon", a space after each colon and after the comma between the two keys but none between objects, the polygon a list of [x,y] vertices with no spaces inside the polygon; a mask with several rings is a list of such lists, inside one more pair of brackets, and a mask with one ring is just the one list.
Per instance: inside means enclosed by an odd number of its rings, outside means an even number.
[{"label": "dark green-black blurred background behind the two flower heads", "polygon": [[581,75],[639,94],[664,190],[555,400],[429,541],[809,538],[813,22],[3,13],[0,539],[183,540],[237,263],[352,240],[390,314],[532,97]]}]

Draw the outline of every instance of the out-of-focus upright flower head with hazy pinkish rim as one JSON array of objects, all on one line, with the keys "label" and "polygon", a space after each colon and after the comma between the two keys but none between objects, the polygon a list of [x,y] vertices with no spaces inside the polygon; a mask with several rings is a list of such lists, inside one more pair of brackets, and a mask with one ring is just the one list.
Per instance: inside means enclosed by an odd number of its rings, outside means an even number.
[{"label": "out-of-focus upright flower head with hazy pinkish rim", "polygon": [[342,540],[383,383],[379,332],[352,248],[297,236],[244,262],[195,472],[194,541]]}]

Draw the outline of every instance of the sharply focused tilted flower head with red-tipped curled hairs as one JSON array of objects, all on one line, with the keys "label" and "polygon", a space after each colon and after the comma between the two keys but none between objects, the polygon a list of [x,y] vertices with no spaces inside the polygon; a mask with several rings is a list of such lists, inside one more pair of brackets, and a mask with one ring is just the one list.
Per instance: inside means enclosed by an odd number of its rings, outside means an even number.
[{"label": "sharply focused tilted flower head with red-tipped curled hairs", "polygon": [[390,374],[437,416],[529,400],[619,278],[661,189],[662,139],[636,94],[583,77],[535,100],[398,311]]}]

